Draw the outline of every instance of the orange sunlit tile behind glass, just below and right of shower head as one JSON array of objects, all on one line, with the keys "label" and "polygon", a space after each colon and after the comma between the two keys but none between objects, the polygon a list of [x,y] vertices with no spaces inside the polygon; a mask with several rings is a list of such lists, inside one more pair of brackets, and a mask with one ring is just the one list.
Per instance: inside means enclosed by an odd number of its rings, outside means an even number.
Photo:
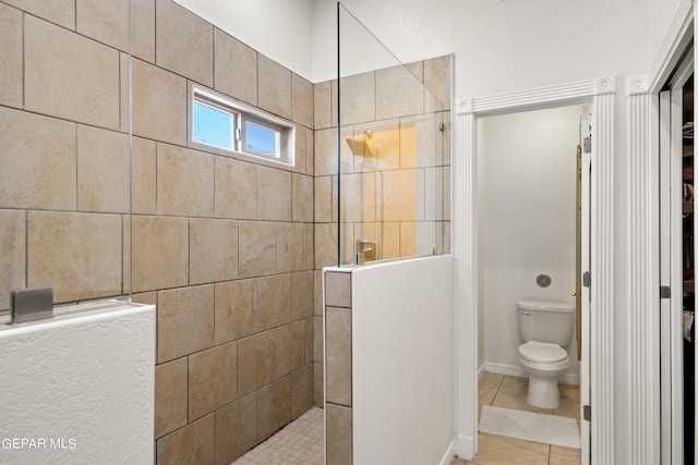
[{"label": "orange sunlit tile behind glass, just below and right of shower head", "polygon": [[383,212],[384,221],[418,220],[417,170],[384,172],[377,184],[377,188],[382,192],[378,198],[378,210]]}]

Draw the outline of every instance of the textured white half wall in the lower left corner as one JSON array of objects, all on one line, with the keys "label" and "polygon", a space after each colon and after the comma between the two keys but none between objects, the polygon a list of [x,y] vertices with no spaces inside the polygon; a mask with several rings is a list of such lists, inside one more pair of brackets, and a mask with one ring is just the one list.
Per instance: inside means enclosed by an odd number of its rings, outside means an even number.
[{"label": "textured white half wall in the lower left corner", "polygon": [[155,306],[60,311],[0,326],[0,463],[152,464]]}]

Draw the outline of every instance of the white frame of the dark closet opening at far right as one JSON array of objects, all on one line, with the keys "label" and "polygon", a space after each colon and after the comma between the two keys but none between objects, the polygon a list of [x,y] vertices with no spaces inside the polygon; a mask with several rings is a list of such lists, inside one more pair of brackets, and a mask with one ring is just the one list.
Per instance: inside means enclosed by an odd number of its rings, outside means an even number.
[{"label": "white frame of the dark closet opening at far right", "polygon": [[[652,85],[650,88],[652,98],[651,134],[657,138],[652,145],[652,156],[658,160],[659,175],[663,183],[657,191],[658,199],[662,201],[660,208],[660,224],[662,230],[657,242],[660,254],[660,284],[670,286],[673,291],[669,299],[660,301],[658,320],[661,345],[661,387],[660,390],[660,425],[661,425],[661,460],[657,463],[663,465],[683,463],[684,440],[696,441],[697,438],[683,438],[683,435],[674,435],[675,430],[683,430],[683,379],[677,380],[683,374],[683,335],[681,318],[681,295],[683,294],[683,277],[679,257],[681,250],[681,206],[676,205],[675,193],[671,189],[681,185],[681,170],[676,168],[675,157],[681,146],[676,146],[676,139],[681,144],[681,127],[675,127],[673,121],[683,120],[683,93],[673,91],[675,87],[683,87],[687,77],[695,75],[696,49],[690,47],[695,37],[693,2],[684,1],[674,19],[671,33],[664,47],[658,56],[654,66]],[[669,87],[669,90],[667,90]],[[694,108],[696,107],[694,102]],[[665,121],[670,124],[666,125]],[[695,143],[694,143],[695,144]],[[695,227],[694,227],[695,228]],[[660,242],[661,241],[661,242]],[[658,253],[659,253],[658,250]],[[695,393],[694,393],[695,395]],[[694,461],[698,457],[694,457]]]}]

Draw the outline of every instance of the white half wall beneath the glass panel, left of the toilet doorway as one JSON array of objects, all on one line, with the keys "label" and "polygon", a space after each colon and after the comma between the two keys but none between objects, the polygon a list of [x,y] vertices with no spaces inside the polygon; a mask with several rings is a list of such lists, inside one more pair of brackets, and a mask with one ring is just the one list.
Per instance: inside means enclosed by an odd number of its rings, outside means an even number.
[{"label": "white half wall beneath the glass panel, left of the toilet doorway", "polygon": [[450,464],[453,257],[352,270],[353,463]]}]

